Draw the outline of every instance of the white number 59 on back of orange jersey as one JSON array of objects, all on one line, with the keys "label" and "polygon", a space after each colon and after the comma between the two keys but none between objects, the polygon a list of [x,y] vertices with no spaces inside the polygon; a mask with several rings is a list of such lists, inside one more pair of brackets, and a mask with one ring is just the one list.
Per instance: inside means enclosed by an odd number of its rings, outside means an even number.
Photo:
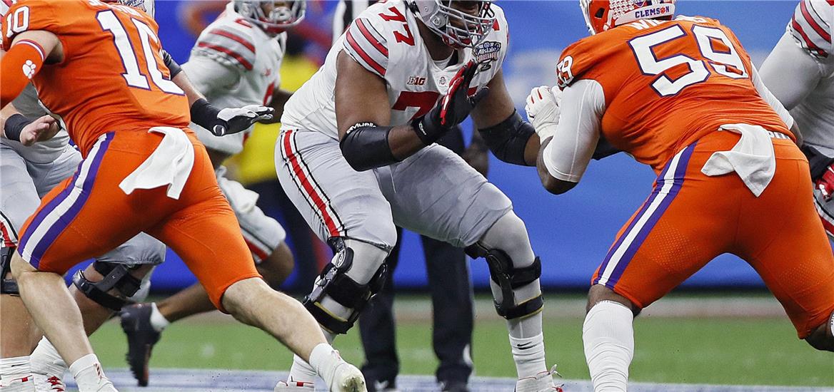
[{"label": "white number 59 on back of orange jersey", "polygon": [[[701,55],[707,61],[696,60],[683,54],[663,59],[658,59],[655,56],[655,47],[688,37],[683,28],[677,24],[645,36],[633,38],[628,42],[637,57],[637,64],[640,65],[641,71],[650,76],[660,75],[651,83],[651,87],[655,89],[658,95],[661,97],[673,96],[686,87],[706,81],[711,75],[711,72],[707,69],[707,62],[719,75],[733,79],[748,77],[744,62],[741,61],[738,51],[733,47],[730,38],[720,28],[695,25],[692,27],[692,34]],[[727,50],[716,51],[712,46],[714,40],[721,42],[724,47],[727,47]],[[672,80],[663,74],[671,67],[681,64],[689,66],[690,72],[686,75]]]}]

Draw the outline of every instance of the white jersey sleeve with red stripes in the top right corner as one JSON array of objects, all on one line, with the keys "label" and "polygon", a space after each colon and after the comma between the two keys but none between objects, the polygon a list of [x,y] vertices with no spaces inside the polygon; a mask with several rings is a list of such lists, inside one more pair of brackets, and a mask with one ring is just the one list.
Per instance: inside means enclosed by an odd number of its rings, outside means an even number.
[{"label": "white jersey sleeve with red stripes in the top right corner", "polygon": [[831,25],[834,24],[834,2],[801,0],[796,5],[787,32],[804,51],[820,61],[831,61]]}]

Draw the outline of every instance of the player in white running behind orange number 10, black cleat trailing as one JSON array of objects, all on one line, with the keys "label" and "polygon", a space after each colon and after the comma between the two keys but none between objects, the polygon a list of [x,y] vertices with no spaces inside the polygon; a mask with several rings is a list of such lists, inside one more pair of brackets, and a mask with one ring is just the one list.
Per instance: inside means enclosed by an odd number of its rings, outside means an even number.
[{"label": "player in white running behind orange number 10, black cleat trailing", "polygon": [[[188,79],[212,104],[263,104],[282,112],[289,97],[289,92],[279,89],[287,41],[284,30],[301,22],[305,6],[303,1],[229,2],[226,11],[200,34],[191,58],[183,64]],[[193,122],[191,129],[206,146],[220,190],[238,218],[259,273],[269,285],[278,287],[293,269],[284,228],[255,206],[257,193],[227,179],[226,168],[221,166],[243,150],[252,128],[222,137]],[[138,385],[148,385],[148,360],[160,332],[173,321],[214,309],[199,283],[158,303],[127,307],[122,312],[122,328],[128,335],[128,365]]]}]

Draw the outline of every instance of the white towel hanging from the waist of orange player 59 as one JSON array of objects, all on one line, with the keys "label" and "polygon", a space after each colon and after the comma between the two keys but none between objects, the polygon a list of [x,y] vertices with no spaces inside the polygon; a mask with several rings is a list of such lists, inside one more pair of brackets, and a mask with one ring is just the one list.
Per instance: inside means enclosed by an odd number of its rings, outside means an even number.
[{"label": "white towel hanging from the waist of orange player 59", "polygon": [[776,173],[776,156],[770,132],[749,124],[725,124],[718,129],[740,133],[741,139],[730,151],[714,152],[701,172],[707,176],[721,176],[735,171],[744,185],[758,197]]}]

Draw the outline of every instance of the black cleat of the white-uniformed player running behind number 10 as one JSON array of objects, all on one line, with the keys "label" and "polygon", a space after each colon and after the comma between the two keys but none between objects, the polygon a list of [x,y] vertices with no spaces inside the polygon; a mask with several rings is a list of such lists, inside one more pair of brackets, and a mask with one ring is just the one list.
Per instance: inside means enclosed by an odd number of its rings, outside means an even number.
[{"label": "black cleat of the white-uniformed player running behind number 10", "polygon": [[122,330],[128,335],[128,366],[139,386],[148,386],[148,362],[151,359],[153,345],[159,341],[160,334],[151,325],[151,304],[125,306],[119,313],[122,318]]}]

